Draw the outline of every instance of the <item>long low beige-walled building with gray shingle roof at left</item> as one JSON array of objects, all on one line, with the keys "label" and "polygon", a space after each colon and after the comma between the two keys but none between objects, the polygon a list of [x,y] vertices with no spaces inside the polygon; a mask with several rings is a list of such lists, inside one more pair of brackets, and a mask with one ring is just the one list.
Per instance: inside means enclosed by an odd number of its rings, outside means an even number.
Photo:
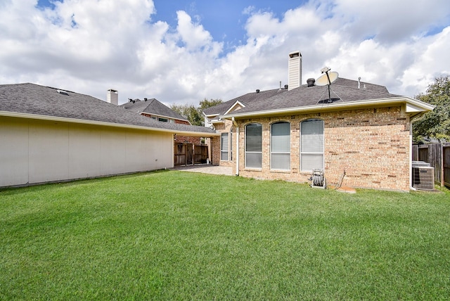
[{"label": "long low beige-walled building with gray shingle roof at left", "polygon": [[0,186],[173,167],[174,135],[217,135],[124,110],[114,90],[108,102],[37,84],[0,85]]}]

